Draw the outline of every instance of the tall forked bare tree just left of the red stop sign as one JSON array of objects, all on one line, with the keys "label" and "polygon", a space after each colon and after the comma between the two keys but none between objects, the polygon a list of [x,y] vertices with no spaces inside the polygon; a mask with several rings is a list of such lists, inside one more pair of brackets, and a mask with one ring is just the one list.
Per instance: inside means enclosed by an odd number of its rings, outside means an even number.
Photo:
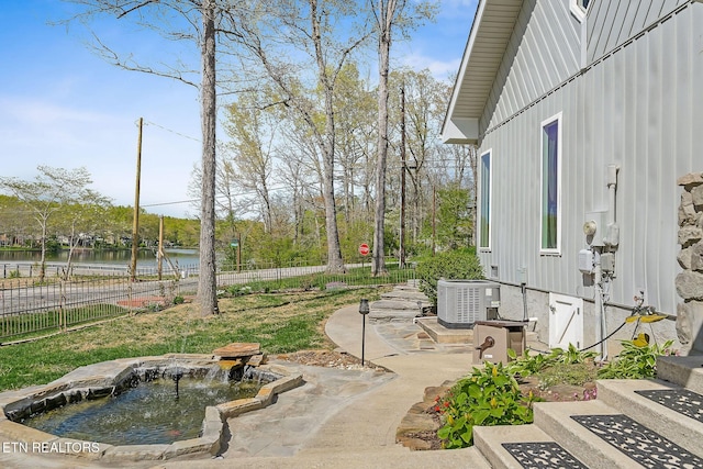
[{"label": "tall forked bare tree just left of the red stop sign", "polygon": [[[333,29],[333,24],[350,22],[358,11],[355,2],[344,0],[271,0],[233,18],[230,37],[248,52],[280,97],[278,103],[289,107],[305,125],[310,138],[322,157],[323,199],[327,235],[327,271],[344,271],[337,228],[334,190],[336,150],[335,96],[337,78],[350,54],[364,43],[364,32]],[[243,10],[234,13],[244,13]],[[308,70],[315,71],[311,86]],[[317,94],[321,96],[319,105]]]}]

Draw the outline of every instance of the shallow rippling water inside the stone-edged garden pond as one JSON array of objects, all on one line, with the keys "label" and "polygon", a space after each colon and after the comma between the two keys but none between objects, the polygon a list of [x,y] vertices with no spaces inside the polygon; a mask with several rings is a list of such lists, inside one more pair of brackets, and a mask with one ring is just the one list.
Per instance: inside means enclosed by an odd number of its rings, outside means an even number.
[{"label": "shallow rippling water inside the stone-edged garden pond", "polygon": [[83,400],[33,415],[22,423],[66,438],[109,445],[171,444],[200,436],[205,406],[254,398],[258,381],[183,377],[141,382],[116,397]]}]

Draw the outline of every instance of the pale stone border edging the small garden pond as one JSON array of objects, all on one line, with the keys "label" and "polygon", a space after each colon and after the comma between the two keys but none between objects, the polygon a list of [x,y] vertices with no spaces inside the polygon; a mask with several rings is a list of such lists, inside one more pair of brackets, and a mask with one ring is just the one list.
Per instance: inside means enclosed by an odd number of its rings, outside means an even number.
[{"label": "pale stone border edging the small garden pond", "polygon": [[48,384],[0,393],[0,436],[13,445],[15,453],[59,455],[105,462],[166,460],[177,457],[216,456],[223,445],[227,418],[264,409],[276,395],[303,383],[302,373],[290,373],[286,367],[260,365],[257,371],[278,378],[264,384],[255,398],[238,399],[205,407],[201,436],[169,445],[114,446],[97,442],[63,438],[13,422],[24,415],[54,409],[86,398],[98,398],[121,391],[148,372],[163,373],[176,366],[188,372],[216,366],[215,355],[168,354],[102,361],[80,367]]}]

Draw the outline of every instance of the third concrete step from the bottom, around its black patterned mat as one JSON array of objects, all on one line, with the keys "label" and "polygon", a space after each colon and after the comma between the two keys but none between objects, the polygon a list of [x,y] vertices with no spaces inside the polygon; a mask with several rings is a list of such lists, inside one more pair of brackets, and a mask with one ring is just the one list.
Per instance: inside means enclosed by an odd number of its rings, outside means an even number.
[{"label": "third concrete step from the bottom, around its black patterned mat", "polygon": [[[636,391],[644,391],[638,393]],[[688,412],[703,420],[703,395],[660,380],[600,380],[598,399],[628,415],[682,448],[703,457],[703,422],[665,406],[646,395],[669,398],[671,404],[683,403]],[[690,398],[693,398],[692,400]]]}]

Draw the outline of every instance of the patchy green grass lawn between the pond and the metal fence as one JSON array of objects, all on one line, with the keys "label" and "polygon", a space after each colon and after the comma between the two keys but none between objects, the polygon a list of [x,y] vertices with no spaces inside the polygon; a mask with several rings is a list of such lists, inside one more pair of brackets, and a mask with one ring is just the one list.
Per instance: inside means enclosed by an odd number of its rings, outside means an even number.
[{"label": "patchy green grass lawn between the pond and the metal fence", "polygon": [[324,323],[337,309],[383,290],[255,293],[221,299],[217,316],[193,304],[141,313],[36,342],[0,347],[0,391],[53,381],[80,366],[168,353],[209,354],[233,342],[258,342],[268,354],[333,348]]}]

